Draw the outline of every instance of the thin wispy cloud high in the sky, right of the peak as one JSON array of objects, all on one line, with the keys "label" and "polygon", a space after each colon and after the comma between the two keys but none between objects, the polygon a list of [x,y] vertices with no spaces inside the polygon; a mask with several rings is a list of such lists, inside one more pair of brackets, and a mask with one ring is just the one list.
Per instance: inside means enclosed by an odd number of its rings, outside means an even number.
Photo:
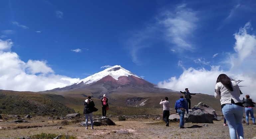
[{"label": "thin wispy cloud high in the sky, right of the peak", "polygon": [[186,4],[178,6],[175,11],[162,12],[157,20],[165,27],[166,40],[176,45],[173,50],[194,49],[189,40],[197,28],[198,19],[192,9],[186,8]]}]

